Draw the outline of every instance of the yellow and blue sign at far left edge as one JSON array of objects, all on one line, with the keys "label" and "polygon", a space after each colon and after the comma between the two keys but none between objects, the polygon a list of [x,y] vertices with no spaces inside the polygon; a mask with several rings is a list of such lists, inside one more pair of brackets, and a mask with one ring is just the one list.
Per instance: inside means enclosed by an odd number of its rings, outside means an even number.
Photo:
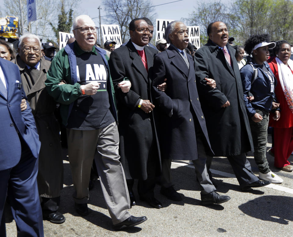
[{"label": "yellow and blue sign at far left edge", "polygon": [[0,18],[0,36],[16,39],[18,17],[6,16]]}]

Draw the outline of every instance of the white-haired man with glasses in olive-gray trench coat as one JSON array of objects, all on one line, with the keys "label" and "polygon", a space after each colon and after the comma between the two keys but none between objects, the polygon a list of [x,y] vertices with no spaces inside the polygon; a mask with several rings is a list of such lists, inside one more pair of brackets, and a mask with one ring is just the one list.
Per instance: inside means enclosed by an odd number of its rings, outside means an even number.
[{"label": "white-haired man with glasses in olive-gray trench coat", "polygon": [[42,197],[43,218],[60,224],[65,221],[63,214],[57,211],[60,190],[63,188],[60,126],[54,115],[56,102],[45,88],[51,62],[42,57],[41,42],[34,34],[20,37],[18,52],[14,62],[20,70],[22,87],[31,106],[41,141],[37,179],[39,195]]}]

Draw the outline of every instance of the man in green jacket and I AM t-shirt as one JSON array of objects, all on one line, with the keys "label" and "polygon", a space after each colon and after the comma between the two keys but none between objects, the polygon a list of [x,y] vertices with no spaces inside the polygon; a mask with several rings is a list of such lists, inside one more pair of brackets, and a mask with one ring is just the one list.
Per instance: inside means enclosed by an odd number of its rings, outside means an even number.
[{"label": "man in green jacket and I AM t-shirt", "polygon": [[[134,217],[119,161],[117,112],[113,83],[105,51],[95,47],[97,27],[89,16],[75,18],[76,41],[60,50],[45,82],[49,94],[60,103],[67,128],[68,157],[75,188],[75,209],[88,215],[89,179],[95,157],[100,182],[114,228],[134,226],[146,217]],[[120,83],[128,92],[131,83]]]}]

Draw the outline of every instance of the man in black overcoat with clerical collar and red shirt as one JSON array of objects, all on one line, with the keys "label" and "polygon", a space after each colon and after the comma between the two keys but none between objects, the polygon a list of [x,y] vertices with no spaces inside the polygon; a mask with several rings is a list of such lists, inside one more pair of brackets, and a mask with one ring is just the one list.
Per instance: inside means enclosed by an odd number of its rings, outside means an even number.
[{"label": "man in black overcoat with clerical collar and red shirt", "polygon": [[[130,22],[129,34],[128,43],[115,49],[109,60],[118,106],[119,153],[131,204],[135,205],[133,180],[139,179],[140,199],[152,207],[161,208],[161,203],[154,198],[156,171],[161,169],[161,160],[148,77],[157,51],[146,46],[150,29],[143,19]],[[121,80],[130,80],[128,93],[121,93]]]}]

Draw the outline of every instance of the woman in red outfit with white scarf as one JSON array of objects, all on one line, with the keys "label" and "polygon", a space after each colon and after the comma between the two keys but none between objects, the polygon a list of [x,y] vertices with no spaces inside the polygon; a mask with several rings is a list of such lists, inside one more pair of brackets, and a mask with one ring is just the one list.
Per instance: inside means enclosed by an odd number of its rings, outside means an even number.
[{"label": "woman in red outfit with white scarf", "polygon": [[293,170],[289,156],[293,151],[293,61],[290,59],[291,46],[287,41],[277,41],[276,57],[269,63],[276,79],[275,94],[280,103],[282,116],[278,120],[270,114],[269,126],[274,127],[275,166],[281,170]]}]

